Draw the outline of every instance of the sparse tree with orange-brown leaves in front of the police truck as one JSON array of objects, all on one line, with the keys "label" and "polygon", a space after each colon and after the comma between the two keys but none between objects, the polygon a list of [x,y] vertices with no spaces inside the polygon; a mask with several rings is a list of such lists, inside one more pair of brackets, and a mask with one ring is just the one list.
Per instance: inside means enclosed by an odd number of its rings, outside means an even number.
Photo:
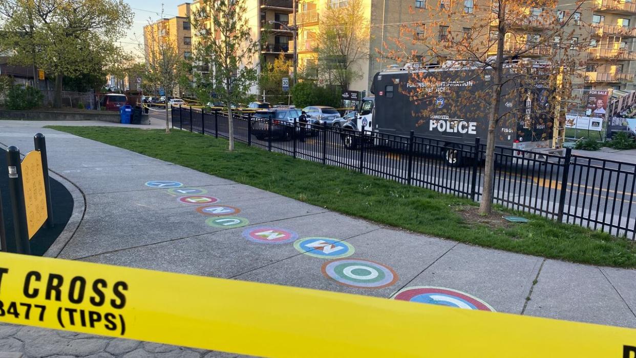
[{"label": "sparse tree with orange-brown leaves in front of the police truck", "polygon": [[[397,63],[420,64],[400,89],[423,105],[422,111],[413,113],[419,117],[418,126],[434,120],[433,109],[436,114],[466,113],[462,118],[466,121],[487,118],[480,203],[480,214],[487,215],[492,212],[495,141],[510,135],[504,130],[516,128],[512,126],[516,122],[536,121],[529,113],[543,113],[541,123],[526,123],[525,134],[538,135],[551,144],[549,129],[560,120],[560,102],[571,95],[571,75],[584,64],[580,54],[587,44],[578,43],[575,36],[580,29],[575,14],[583,0],[560,12],[555,11],[557,0],[429,3],[432,8],[411,9],[414,18],[424,20],[403,25],[393,44],[384,44],[383,52]],[[429,65],[452,71],[422,71]],[[472,90],[474,83],[485,86]],[[532,93],[536,88],[542,90]],[[441,95],[446,103],[443,109],[424,106]],[[541,100],[532,101],[532,97]]]}]

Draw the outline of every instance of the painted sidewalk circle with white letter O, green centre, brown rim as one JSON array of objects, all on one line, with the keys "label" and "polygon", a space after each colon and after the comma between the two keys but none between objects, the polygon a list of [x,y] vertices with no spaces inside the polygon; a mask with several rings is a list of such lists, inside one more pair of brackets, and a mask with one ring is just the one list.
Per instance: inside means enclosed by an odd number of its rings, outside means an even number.
[{"label": "painted sidewalk circle with white letter O, green centre, brown rim", "polygon": [[361,259],[328,261],[322,265],[322,273],[339,284],[351,287],[379,289],[397,281],[397,273],[388,266]]}]

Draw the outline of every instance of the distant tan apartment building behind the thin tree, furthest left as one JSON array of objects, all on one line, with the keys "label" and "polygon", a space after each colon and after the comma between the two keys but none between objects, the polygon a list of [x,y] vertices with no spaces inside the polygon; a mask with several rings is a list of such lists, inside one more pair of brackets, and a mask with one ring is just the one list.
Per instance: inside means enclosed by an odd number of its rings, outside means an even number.
[{"label": "distant tan apartment building behind the thin tree, furthest left", "polygon": [[[177,16],[162,18],[161,20],[144,26],[144,56],[146,61],[151,52],[156,52],[157,44],[171,43],[179,57],[188,59],[192,55],[192,34],[190,25],[190,3],[177,6]],[[181,89],[177,86],[172,93],[173,97],[181,96]]]}]

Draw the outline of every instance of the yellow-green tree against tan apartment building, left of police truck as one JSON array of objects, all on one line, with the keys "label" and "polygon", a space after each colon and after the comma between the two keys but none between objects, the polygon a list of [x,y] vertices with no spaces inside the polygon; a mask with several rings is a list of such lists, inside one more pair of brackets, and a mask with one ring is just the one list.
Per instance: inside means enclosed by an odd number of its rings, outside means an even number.
[{"label": "yellow-green tree against tan apartment building, left of police truck", "polygon": [[348,90],[362,76],[358,62],[368,59],[370,27],[364,20],[363,0],[349,0],[347,6],[328,8],[321,15],[317,36],[320,76]]}]

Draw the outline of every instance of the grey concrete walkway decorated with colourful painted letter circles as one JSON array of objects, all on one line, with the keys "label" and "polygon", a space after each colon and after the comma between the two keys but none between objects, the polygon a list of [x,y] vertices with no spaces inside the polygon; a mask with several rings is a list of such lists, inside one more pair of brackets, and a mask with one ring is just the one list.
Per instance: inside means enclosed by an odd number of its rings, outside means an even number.
[{"label": "grey concrete walkway decorated with colourful painted letter circles", "polygon": [[[32,149],[32,135],[46,124],[0,121],[0,143]],[[408,287],[445,287],[436,292],[448,296],[435,296],[438,302],[636,327],[635,270],[394,230],[99,142],[41,132],[50,168],[66,179],[79,208],[49,256],[386,298]],[[146,185],[156,181],[181,182],[225,207],[204,210],[180,201],[182,193]],[[234,212],[240,223],[224,227],[236,221],[209,215],[215,210]],[[336,258],[356,261],[330,261]],[[233,356],[7,325],[0,326],[3,351],[28,357]]]}]

